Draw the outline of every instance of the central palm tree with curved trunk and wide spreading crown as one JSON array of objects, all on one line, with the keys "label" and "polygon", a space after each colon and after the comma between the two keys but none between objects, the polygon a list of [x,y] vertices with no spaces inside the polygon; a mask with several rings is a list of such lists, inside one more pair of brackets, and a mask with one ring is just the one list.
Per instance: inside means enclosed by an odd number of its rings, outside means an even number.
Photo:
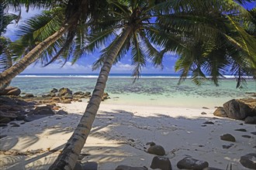
[{"label": "central palm tree with curved trunk and wide spreading crown", "polygon": [[[92,97],[88,102],[88,106],[86,107],[84,115],[81,117],[78,127],[74,130],[74,133],[67,141],[61,155],[59,155],[54,164],[50,166],[50,169],[74,168],[81,148],[85,145],[85,141],[92,128],[92,123],[95,120],[112,64],[119,61],[125,53],[129,50],[131,51],[133,76],[139,76],[141,67],[146,65],[147,58],[151,59],[155,66],[161,66],[161,59],[165,52],[171,50],[185,55],[183,52],[191,50],[188,44],[193,39],[206,39],[207,37],[216,39],[217,36],[214,35],[206,36],[207,33],[209,33],[209,30],[217,32],[216,35],[221,33],[221,30],[216,28],[217,26],[211,29],[212,25],[209,24],[209,22],[206,22],[207,19],[214,18],[213,15],[205,16],[202,12],[202,9],[204,8],[202,8],[202,5],[199,5],[202,3],[201,1],[197,1],[200,3],[196,5],[190,4],[191,1],[182,1],[184,4],[179,2],[180,1],[166,2],[143,0],[109,1],[112,5],[112,8],[109,7],[109,15],[105,16],[103,18],[104,22],[99,22],[97,27],[92,27],[91,37],[89,38],[90,43],[89,45],[86,43],[82,49],[82,53],[88,53],[92,52],[95,46],[99,47],[102,44],[105,44],[105,42],[111,42],[106,49],[102,50],[102,55],[99,57],[99,60],[95,62],[94,69],[101,66],[95,90],[92,93]],[[224,3],[223,5],[230,4]],[[234,8],[239,7],[233,2],[232,5]],[[166,8],[166,6],[168,8]],[[195,8],[199,6],[200,8]],[[206,5],[204,7],[206,7]],[[166,9],[166,11],[163,11],[162,9]],[[227,8],[225,9],[227,10]],[[242,8],[240,9],[244,10]],[[200,15],[195,15],[197,10],[201,11]],[[223,9],[223,11],[225,10]],[[204,23],[206,26],[195,24],[199,16],[205,17]],[[165,25],[165,27],[168,28],[164,29],[164,24],[162,24],[163,21],[161,19],[164,19],[165,17],[171,17],[174,22],[171,27],[170,25]],[[194,28],[189,27],[184,24],[184,22],[193,22],[195,26]],[[109,26],[109,23],[112,23],[112,26]],[[117,32],[120,30],[121,32],[118,35]],[[199,36],[199,31],[203,36]],[[189,32],[193,34],[192,37],[189,36]],[[114,39],[112,39],[113,36],[115,37]],[[172,44],[170,42],[172,42]],[[164,49],[159,52],[154,48],[153,44],[164,47]],[[194,45],[192,42],[191,44]],[[206,44],[204,43],[204,45]],[[202,44],[199,44],[199,47],[202,48]],[[190,60],[193,61],[193,59],[195,58]],[[77,58],[74,58],[74,61],[76,60]]]}]

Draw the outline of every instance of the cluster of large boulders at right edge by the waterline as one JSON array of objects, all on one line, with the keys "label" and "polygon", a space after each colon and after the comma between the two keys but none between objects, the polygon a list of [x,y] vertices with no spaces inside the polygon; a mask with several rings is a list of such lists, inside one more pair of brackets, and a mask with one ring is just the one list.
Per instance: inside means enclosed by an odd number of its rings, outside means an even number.
[{"label": "cluster of large boulders at right edge by the waterline", "polygon": [[233,99],[218,107],[214,113],[218,117],[242,120],[245,124],[256,124],[256,99]]}]

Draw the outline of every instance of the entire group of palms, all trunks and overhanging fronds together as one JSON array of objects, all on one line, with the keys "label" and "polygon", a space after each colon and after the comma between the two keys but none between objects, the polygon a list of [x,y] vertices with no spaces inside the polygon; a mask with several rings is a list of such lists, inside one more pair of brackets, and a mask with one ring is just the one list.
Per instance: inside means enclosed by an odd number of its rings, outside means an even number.
[{"label": "entire group of palms, all trunks and overhanging fronds together", "polygon": [[31,1],[49,10],[22,26],[20,39],[13,44],[19,60],[0,74],[0,86],[38,59],[43,64],[60,58],[74,63],[82,55],[107,46],[94,65],[101,71],[85,114],[50,169],[74,168],[112,64],[129,51],[136,77],[147,59],[154,66],[163,66],[168,52],[178,54],[175,70],[182,73],[180,82],[192,73],[192,80],[200,84],[207,80],[207,73],[217,84],[223,73],[232,73],[240,87],[242,76],[256,74],[255,10],[248,12],[232,0],[37,2]]}]

